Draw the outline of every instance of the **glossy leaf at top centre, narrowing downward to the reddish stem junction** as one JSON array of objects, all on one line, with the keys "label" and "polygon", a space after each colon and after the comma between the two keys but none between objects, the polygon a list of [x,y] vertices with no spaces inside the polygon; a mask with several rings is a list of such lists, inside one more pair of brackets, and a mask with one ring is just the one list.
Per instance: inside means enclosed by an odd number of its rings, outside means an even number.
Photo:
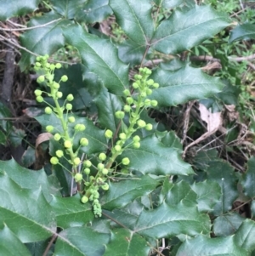
[{"label": "glossy leaf at top centre, narrowing downward to the reddish stem junction", "polygon": [[154,29],[150,0],[110,0],[109,4],[116,15],[116,22],[128,38],[139,45],[150,42]]}]

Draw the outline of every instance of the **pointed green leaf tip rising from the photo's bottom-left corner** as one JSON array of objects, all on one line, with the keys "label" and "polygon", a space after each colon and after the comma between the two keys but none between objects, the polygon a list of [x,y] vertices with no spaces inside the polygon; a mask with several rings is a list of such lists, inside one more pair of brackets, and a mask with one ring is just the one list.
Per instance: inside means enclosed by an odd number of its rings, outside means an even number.
[{"label": "pointed green leaf tip rising from the photo's bottom-left corner", "polygon": [[7,225],[0,230],[0,253],[3,256],[31,256],[26,246],[8,229]]}]

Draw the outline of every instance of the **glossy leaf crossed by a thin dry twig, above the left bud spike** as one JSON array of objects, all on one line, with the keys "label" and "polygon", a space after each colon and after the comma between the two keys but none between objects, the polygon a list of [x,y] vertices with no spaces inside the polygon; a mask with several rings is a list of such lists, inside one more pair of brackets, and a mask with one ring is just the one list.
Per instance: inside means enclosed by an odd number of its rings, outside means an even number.
[{"label": "glossy leaf crossed by a thin dry twig, above the left bud spike", "polygon": [[[21,45],[35,54],[54,54],[55,51],[65,44],[61,26],[66,26],[71,23],[69,20],[59,20],[59,18],[61,18],[61,16],[54,12],[49,12],[41,17],[32,18],[28,23],[28,27],[41,26],[53,20],[57,21],[48,26],[26,31],[20,36]],[[19,62],[20,70],[25,71],[35,59],[36,57],[34,55],[23,50]]]}]

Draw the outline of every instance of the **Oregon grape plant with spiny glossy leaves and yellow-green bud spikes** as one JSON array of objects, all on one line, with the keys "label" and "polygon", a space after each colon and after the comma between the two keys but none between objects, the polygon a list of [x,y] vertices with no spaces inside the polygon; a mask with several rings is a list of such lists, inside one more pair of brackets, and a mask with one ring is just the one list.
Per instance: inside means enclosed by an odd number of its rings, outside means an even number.
[{"label": "Oregon grape plant with spiny glossy leaves and yellow-green bud spikes", "polygon": [[31,116],[50,155],[37,171],[0,162],[0,255],[254,255],[254,158],[243,173],[216,149],[185,162],[197,124],[171,116],[235,98],[184,58],[235,26],[199,2],[0,2],[8,25],[29,20],[9,38],[19,35],[20,70],[37,73],[26,113],[41,111]]}]

